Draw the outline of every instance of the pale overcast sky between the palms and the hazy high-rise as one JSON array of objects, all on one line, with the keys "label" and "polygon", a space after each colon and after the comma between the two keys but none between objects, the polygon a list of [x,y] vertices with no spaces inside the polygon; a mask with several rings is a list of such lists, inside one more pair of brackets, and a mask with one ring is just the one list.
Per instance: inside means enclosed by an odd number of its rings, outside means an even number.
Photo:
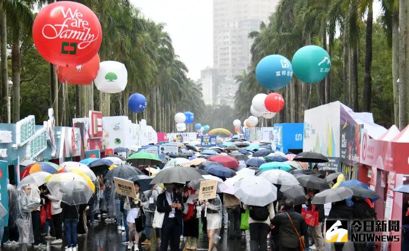
[{"label": "pale overcast sky between the palms and the hazy high-rise", "polygon": [[[213,0],[131,0],[145,17],[166,24],[175,52],[188,69],[193,80],[200,70],[213,65]],[[380,4],[374,2],[374,17]],[[374,18],[374,20],[375,20]]]}]

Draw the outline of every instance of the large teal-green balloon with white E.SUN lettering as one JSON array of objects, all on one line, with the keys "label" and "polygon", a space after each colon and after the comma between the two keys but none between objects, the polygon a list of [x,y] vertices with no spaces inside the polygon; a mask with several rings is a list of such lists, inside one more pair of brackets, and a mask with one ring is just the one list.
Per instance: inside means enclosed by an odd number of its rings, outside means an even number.
[{"label": "large teal-green balloon with white E.SUN lettering", "polygon": [[320,82],[331,70],[331,58],[326,50],[316,45],[299,49],[292,57],[292,71],[306,83]]}]

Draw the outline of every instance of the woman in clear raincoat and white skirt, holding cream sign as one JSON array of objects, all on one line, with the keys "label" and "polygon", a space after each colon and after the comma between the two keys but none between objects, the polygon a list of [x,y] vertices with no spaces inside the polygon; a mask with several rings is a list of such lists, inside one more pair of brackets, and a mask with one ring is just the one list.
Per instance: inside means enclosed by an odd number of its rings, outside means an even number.
[{"label": "woman in clear raincoat and white skirt, holding cream sign", "polygon": [[207,232],[209,237],[209,251],[217,250],[216,245],[220,239],[221,216],[223,213],[221,200],[218,194],[216,198],[205,200],[202,204],[206,208]]}]

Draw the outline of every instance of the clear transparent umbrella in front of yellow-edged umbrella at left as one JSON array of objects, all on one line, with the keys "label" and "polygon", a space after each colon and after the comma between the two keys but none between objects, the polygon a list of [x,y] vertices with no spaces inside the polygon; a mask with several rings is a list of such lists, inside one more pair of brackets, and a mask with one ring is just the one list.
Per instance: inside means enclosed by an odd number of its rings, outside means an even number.
[{"label": "clear transparent umbrella in front of yellow-edged umbrella at left", "polygon": [[47,188],[56,197],[62,194],[61,201],[69,205],[86,204],[95,191],[90,179],[74,172],[53,174],[48,180]]}]

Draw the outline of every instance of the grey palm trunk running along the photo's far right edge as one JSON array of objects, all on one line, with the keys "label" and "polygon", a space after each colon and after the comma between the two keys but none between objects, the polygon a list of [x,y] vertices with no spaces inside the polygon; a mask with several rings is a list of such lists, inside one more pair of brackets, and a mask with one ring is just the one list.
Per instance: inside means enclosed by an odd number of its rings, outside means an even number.
[{"label": "grey palm trunk running along the photo's far right edge", "polygon": [[399,3],[399,128],[402,130],[408,123],[407,83],[409,83],[409,1]]}]

